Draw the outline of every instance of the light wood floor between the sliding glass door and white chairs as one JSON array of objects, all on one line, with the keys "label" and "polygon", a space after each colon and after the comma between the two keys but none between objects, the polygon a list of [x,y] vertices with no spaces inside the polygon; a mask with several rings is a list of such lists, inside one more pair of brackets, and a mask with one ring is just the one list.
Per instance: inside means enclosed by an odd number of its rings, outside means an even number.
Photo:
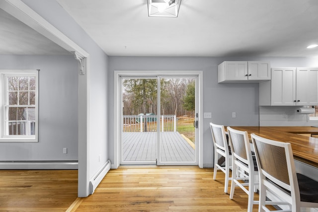
[{"label": "light wood floor between the sliding glass door and white chairs", "polygon": [[218,172],[214,181],[211,168],[120,168],[110,170],[76,211],[107,210],[246,212],[247,195],[237,189],[230,200],[224,193],[224,173]]}]

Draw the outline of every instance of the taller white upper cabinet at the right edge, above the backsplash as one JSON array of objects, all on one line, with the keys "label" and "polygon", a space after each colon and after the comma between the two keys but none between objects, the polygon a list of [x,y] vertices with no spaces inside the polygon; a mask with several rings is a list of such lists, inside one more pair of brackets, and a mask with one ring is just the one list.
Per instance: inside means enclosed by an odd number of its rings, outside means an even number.
[{"label": "taller white upper cabinet at the right edge, above the backsplash", "polygon": [[259,84],[259,105],[318,105],[318,68],[272,68]]}]

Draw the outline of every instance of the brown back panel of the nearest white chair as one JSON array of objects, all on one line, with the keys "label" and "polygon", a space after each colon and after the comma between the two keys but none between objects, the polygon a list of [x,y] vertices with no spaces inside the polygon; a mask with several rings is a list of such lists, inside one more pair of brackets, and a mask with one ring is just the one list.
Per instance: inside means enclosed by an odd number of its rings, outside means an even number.
[{"label": "brown back panel of the nearest white chair", "polygon": [[261,169],[281,182],[290,185],[285,148],[261,142],[257,138],[253,138],[253,141]]}]

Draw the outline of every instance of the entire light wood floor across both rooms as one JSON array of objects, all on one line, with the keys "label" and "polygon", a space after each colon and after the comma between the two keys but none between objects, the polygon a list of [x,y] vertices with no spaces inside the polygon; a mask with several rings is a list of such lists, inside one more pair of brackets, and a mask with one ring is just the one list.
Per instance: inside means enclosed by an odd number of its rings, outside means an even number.
[{"label": "entire light wood floor across both rooms", "polygon": [[77,178],[77,170],[0,170],[0,211],[247,210],[247,195],[237,188],[230,200],[224,174],[214,181],[211,168],[122,167],[110,170],[87,198],[77,198]]}]

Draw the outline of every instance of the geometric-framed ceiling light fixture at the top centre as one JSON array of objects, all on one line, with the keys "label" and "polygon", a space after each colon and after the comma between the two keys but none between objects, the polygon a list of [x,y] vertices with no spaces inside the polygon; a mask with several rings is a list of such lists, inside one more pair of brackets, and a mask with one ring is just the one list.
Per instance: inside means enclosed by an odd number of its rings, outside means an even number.
[{"label": "geometric-framed ceiling light fixture at the top centre", "polygon": [[178,17],[181,0],[147,0],[149,17]]}]

